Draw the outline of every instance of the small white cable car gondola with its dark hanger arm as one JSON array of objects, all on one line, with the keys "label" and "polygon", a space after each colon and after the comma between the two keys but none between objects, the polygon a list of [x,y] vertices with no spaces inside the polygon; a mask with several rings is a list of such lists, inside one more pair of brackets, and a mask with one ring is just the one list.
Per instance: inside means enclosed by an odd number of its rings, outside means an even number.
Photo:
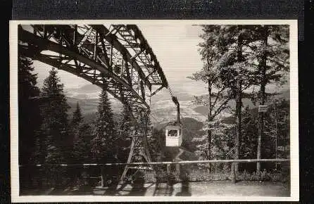
[{"label": "small white cable car gondola with its dark hanger arm", "polygon": [[177,121],[169,122],[165,127],[165,146],[181,146],[183,128],[180,122],[180,103],[175,96],[172,96],[172,101],[177,105]]}]

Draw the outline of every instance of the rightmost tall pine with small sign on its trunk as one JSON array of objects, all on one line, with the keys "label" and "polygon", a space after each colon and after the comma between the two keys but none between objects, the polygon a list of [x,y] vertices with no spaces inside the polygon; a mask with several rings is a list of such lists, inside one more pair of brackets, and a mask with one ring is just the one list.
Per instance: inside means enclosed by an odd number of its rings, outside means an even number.
[{"label": "rightmost tall pine with small sign on its trunk", "polygon": [[[267,100],[265,87],[270,83],[284,84],[289,72],[289,27],[287,25],[260,25],[256,29],[257,43],[253,45],[258,64],[256,65],[256,85],[260,86],[258,98],[260,105]],[[264,134],[264,113],[258,117],[257,158],[262,158],[261,144]],[[256,165],[260,172],[260,163]]]}]

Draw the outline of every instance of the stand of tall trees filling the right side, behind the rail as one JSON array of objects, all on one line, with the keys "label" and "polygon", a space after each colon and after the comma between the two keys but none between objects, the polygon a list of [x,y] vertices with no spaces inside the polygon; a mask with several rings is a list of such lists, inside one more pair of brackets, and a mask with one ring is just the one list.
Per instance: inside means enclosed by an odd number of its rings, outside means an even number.
[{"label": "stand of tall trees filling the right side, behind the rail", "polygon": [[[208,107],[203,128],[206,142],[199,145],[199,155],[207,159],[289,157],[289,101],[275,101],[276,93],[266,89],[270,84],[280,87],[287,83],[289,26],[202,27],[199,52],[203,68],[189,77],[208,86],[207,97],[196,100]],[[268,105],[268,111],[243,107],[244,98],[254,105]],[[229,106],[231,100],[235,107]],[[223,110],[230,110],[235,121],[230,124],[218,119]],[[240,169],[236,165],[236,172]],[[260,162],[250,170],[260,174]]]}]

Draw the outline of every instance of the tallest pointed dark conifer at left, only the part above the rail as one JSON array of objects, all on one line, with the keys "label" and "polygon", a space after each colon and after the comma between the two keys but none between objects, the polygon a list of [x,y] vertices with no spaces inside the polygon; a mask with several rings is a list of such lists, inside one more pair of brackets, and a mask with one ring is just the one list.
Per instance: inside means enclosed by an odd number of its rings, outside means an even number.
[{"label": "tallest pointed dark conifer at left, only the part above the rail", "polygon": [[49,76],[44,79],[42,96],[47,98],[42,106],[44,117],[42,130],[46,136],[45,162],[65,162],[68,149],[71,146],[68,135],[68,103],[63,94],[63,84],[57,76],[57,70],[52,68]]}]

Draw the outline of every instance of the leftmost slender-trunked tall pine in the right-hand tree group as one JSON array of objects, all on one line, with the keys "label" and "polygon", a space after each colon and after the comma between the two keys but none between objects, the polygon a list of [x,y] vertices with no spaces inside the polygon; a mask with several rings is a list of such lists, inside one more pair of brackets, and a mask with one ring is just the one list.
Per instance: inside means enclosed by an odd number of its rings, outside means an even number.
[{"label": "leftmost slender-trunked tall pine in the right-hand tree group", "polygon": [[[211,141],[212,141],[212,124],[213,120],[222,110],[227,108],[227,102],[232,99],[231,96],[226,96],[230,87],[223,86],[218,67],[216,64],[226,51],[222,43],[222,38],[219,34],[222,31],[220,25],[203,25],[203,34],[200,37],[203,42],[199,44],[201,59],[203,60],[203,68],[201,71],[193,74],[190,79],[202,81],[208,85],[208,100],[201,101],[203,105],[208,107],[207,118],[207,159],[211,160]],[[215,90],[215,91],[214,91]]]}]

